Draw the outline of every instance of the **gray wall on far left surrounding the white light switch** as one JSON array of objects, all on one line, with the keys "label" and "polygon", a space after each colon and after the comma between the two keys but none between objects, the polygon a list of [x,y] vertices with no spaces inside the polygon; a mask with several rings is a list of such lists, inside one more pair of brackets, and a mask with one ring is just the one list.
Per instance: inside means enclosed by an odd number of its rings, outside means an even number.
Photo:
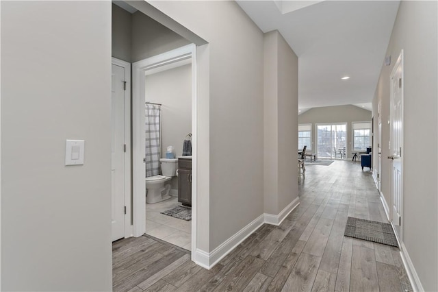
[{"label": "gray wall on far left surrounding the white light switch", "polygon": [[1,1],[2,291],[112,289],[110,50],[108,1]]}]

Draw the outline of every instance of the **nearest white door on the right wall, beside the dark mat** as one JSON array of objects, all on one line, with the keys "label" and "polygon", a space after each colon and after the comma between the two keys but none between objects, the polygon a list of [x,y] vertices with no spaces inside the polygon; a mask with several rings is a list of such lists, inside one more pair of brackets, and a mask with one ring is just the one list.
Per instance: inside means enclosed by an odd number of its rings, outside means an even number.
[{"label": "nearest white door on the right wall, beside the dark mat", "polygon": [[391,171],[391,221],[401,241],[403,207],[403,51],[391,73],[391,141],[389,150],[392,160]]}]

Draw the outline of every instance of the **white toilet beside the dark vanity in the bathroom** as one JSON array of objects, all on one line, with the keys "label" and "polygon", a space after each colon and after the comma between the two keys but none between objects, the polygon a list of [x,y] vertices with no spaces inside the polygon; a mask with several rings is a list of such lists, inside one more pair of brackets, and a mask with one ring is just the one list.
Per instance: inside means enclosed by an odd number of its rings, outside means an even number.
[{"label": "white toilet beside the dark vanity in the bathroom", "polygon": [[164,185],[177,175],[178,159],[161,158],[159,160],[163,175],[146,178],[146,203],[158,203],[169,199],[170,184]]}]

